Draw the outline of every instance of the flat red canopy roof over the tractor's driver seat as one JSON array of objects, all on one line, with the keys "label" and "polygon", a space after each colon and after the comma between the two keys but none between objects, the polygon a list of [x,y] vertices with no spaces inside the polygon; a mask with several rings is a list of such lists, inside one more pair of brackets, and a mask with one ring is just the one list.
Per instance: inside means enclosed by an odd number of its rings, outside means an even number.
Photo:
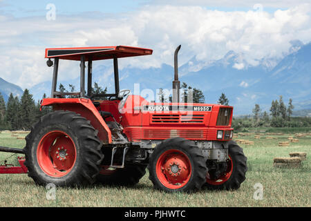
[{"label": "flat red canopy roof over the tractor's driver seat", "polygon": [[85,61],[104,60],[120,57],[134,57],[141,55],[152,55],[153,50],[148,48],[135,48],[129,46],[109,46],[109,47],[82,47],[82,48],[46,48],[46,58],[56,58],[80,61],[81,55],[85,56]]}]

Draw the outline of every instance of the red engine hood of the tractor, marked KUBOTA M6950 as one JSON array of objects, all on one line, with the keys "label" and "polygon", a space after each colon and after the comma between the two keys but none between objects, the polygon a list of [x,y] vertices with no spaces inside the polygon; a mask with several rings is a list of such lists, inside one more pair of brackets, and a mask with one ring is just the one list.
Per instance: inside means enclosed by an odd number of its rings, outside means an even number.
[{"label": "red engine hood of the tractor, marked KUBOTA M6950", "polygon": [[[180,106],[197,106],[202,109],[211,107],[211,111],[147,111],[144,110],[146,106],[177,106],[177,104],[149,103],[139,95],[129,95],[121,113],[119,104],[118,101],[102,101],[100,110],[111,112],[116,121],[122,124],[129,141],[133,142],[165,140],[171,137],[184,137],[188,140],[218,140],[218,130],[233,131],[232,106],[181,103]],[[216,126],[220,108],[231,109],[229,123],[226,126]]]}]

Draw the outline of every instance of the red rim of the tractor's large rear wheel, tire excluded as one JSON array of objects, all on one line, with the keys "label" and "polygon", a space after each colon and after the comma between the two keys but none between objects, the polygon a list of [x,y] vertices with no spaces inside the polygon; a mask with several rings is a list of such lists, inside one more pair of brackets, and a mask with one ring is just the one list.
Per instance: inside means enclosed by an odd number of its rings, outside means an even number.
[{"label": "red rim of the tractor's large rear wheel, tire excluded", "polygon": [[62,131],[51,131],[41,138],[37,148],[37,161],[42,171],[52,177],[68,174],[76,160],[75,143]]}]

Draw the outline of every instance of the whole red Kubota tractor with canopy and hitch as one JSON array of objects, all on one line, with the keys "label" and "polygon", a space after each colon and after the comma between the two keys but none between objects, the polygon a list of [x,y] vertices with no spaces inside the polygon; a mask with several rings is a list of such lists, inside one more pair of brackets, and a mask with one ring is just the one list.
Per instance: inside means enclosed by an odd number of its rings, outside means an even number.
[{"label": "whole red Kubota tractor with canopy and hitch", "polygon": [[[0,166],[0,173],[27,173],[36,184],[83,186],[95,182],[137,184],[146,173],[156,189],[194,191],[238,189],[247,171],[243,149],[232,141],[232,106],[180,103],[177,55],[173,102],[147,102],[120,90],[117,59],[152,55],[153,50],[129,46],[47,48],[53,66],[52,106],[32,126],[21,166]],[[52,60],[53,59],[53,60]],[[57,91],[59,60],[80,61],[80,92]],[[93,61],[113,59],[115,93],[92,93]],[[87,68],[87,91],[85,91]],[[75,95],[77,98],[64,98]],[[95,99],[96,98],[96,99]]]}]

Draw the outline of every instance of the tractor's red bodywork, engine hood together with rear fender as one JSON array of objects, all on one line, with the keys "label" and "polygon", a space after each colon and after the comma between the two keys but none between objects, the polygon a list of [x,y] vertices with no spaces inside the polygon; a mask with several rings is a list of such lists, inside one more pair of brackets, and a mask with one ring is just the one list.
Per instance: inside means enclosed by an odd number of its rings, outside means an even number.
[{"label": "tractor's red bodywork, engine hood together with rear fender", "polygon": [[[179,106],[188,107],[190,110],[151,111],[151,109],[156,108],[173,108],[178,104],[149,103],[139,95],[129,95],[126,100],[121,102],[119,100],[97,102],[100,102],[100,106],[95,108],[90,99],[48,98],[43,99],[41,106],[52,105],[55,111],[74,111],[86,117],[91,121],[94,128],[99,131],[100,140],[106,144],[113,142],[111,140],[111,131],[99,111],[112,113],[115,120],[123,126],[124,133],[131,142],[166,140],[172,137],[184,137],[188,140],[231,140],[231,138],[225,138],[224,136],[223,139],[217,139],[217,131],[222,130],[224,134],[233,131],[231,128],[232,106],[180,103]],[[231,111],[229,112],[227,124],[217,126],[220,108],[227,108]],[[113,118],[106,118],[106,121],[113,121]]]}]

